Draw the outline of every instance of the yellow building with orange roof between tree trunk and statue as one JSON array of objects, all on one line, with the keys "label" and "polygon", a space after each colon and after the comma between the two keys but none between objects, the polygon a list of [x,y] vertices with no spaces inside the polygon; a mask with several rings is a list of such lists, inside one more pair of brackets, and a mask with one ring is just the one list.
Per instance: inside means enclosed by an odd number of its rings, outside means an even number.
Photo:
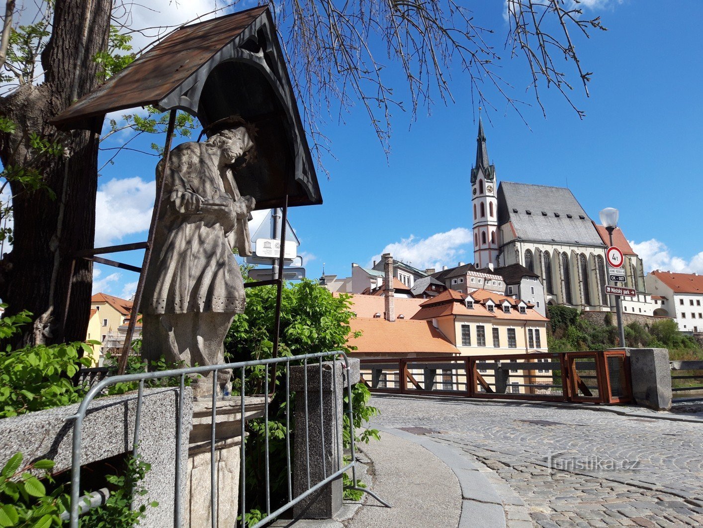
[{"label": "yellow building with orange roof between tree trunk and statue", "polygon": [[[120,348],[124,344],[126,325],[129,322],[132,302],[108,294],[91,297],[91,313],[88,322],[88,337],[100,341],[93,346],[93,361],[102,365],[105,352]],[[135,334],[137,334],[138,329]]]}]

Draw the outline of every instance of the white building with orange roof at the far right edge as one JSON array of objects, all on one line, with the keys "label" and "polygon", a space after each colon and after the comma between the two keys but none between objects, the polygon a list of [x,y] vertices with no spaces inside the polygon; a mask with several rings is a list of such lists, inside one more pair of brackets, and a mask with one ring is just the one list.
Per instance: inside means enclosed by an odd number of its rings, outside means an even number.
[{"label": "white building with orange roof at the far right edge", "polygon": [[647,274],[654,315],[673,318],[683,332],[703,332],[703,276],[654,270]]}]

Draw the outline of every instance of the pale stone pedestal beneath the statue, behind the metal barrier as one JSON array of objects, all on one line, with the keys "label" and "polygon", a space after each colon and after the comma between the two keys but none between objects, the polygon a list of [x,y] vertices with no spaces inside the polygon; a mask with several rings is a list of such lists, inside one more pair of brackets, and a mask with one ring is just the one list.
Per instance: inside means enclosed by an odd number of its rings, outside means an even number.
[{"label": "pale stone pedestal beneath the statue, behind the metal barrier", "polygon": [[[264,415],[266,398],[245,398],[245,420]],[[239,510],[239,477],[242,434],[240,398],[217,401],[215,425],[215,486],[212,489],[212,400],[193,402],[193,429],[188,448],[188,473],[183,503],[183,526],[212,526],[212,494],[216,494],[219,526],[236,523]]]}]

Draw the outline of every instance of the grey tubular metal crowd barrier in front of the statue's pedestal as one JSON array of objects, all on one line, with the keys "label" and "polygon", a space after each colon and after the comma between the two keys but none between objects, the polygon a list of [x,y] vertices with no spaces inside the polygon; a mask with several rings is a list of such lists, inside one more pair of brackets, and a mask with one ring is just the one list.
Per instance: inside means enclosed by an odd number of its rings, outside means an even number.
[{"label": "grey tubular metal crowd barrier in front of the statue's pedestal", "polygon": [[[281,384],[285,385],[285,454],[286,454],[286,467],[285,470],[287,472],[287,484],[288,484],[288,496],[287,500],[285,501],[285,504],[280,506],[279,508],[276,508],[276,510],[271,511],[271,482],[270,482],[270,474],[271,474],[271,467],[269,466],[269,404],[270,400],[269,398],[264,398],[265,403],[264,403],[264,431],[265,431],[265,482],[266,482],[266,515],[262,520],[254,524],[254,527],[252,528],[259,528],[262,527],[264,524],[267,524],[268,522],[271,522],[274,517],[278,517],[280,514],[284,513],[287,510],[290,510],[292,506],[295,504],[299,503],[300,501],[303,501],[305,498],[308,498],[312,494],[314,494],[318,489],[321,489],[323,486],[326,484],[329,484],[330,482],[333,482],[333,480],[341,478],[342,474],[344,472],[347,472],[351,470],[352,472],[352,483],[354,488],[358,491],[363,491],[364,493],[370,494],[374,498],[376,498],[378,501],[380,501],[382,504],[387,505],[384,503],[378,496],[375,496],[373,492],[369,491],[368,489],[364,489],[361,487],[356,486],[356,451],[355,451],[355,446],[354,446],[354,408],[352,406],[352,384],[356,382],[356,380],[349,380],[347,379],[347,386],[346,386],[346,396],[347,396],[347,406],[346,408],[343,409],[343,412],[345,415],[347,415],[348,420],[349,420],[349,427],[351,428],[350,434],[349,434],[349,455],[350,455],[350,461],[347,464],[343,463],[342,460],[342,439],[340,439],[340,434],[335,435],[336,438],[334,439],[336,443],[336,448],[337,448],[337,460],[334,465],[334,467],[330,468],[330,471],[328,472],[327,468],[325,467],[324,459],[323,459],[323,479],[321,479],[319,482],[311,482],[311,477],[310,477],[310,467],[311,467],[311,455],[316,455],[316,453],[311,453],[310,448],[309,448],[309,443],[308,443],[308,436],[309,436],[309,431],[310,431],[310,424],[309,424],[309,415],[308,415],[308,401],[311,399],[309,397],[309,391],[308,391],[308,370],[309,367],[311,366],[319,366],[319,373],[320,373],[320,382],[318,383],[320,385],[319,387],[319,403],[320,405],[322,404],[322,399],[323,399],[323,389],[322,389],[322,373],[323,373],[323,359],[324,358],[330,358],[331,356],[335,358],[341,358],[335,360],[335,365],[334,370],[333,370],[333,376],[332,376],[332,383],[334,385],[333,391],[336,393],[337,392],[337,375],[336,375],[336,365],[337,363],[343,362],[342,365],[342,372],[348,373],[350,372],[349,370],[349,359],[347,358],[346,354],[343,352],[324,352],[324,353],[312,353],[312,354],[305,354],[302,356],[291,356],[291,357],[285,357],[285,358],[273,358],[273,359],[266,359],[266,360],[253,360],[253,361],[243,361],[243,362],[238,362],[238,363],[224,363],[221,365],[213,365],[213,366],[203,366],[203,367],[190,367],[190,368],[183,368],[183,369],[175,369],[175,370],[164,370],[164,371],[159,371],[159,372],[140,372],[138,374],[130,374],[130,375],[121,375],[121,376],[108,376],[104,377],[103,379],[100,379],[99,381],[95,382],[93,380],[93,383],[91,384],[91,389],[89,390],[88,394],[86,394],[85,398],[83,399],[82,403],[80,404],[77,413],[75,415],[72,415],[67,418],[67,420],[73,420],[74,421],[74,427],[73,427],[73,444],[72,444],[72,464],[71,464],[71,492],[70,492],[70,527],[72,528],[77,528],[79,525],[79,515],[82,513],[82,510],[86,506],[84,505],[85,498],[82,498],[80,496],[80,486],[81,486],[81,444],[83,441],[83,434],[82,434],[82,429],[83,429],[83,422],[84,418],[86,417],[86,412],[90,410],[91,402],[93,401],[96,396],[100,395],[105,389],[107,389],[109,386],[118,384],[118,383],[126,383],[126,382],[131,382],[131,383],[138,383],[138,395],[137,395],[137,403],[136,403],[136,418],[134,422],[134,439],[133,439],[133,446],[134,446],[134,455],[136,455],[136,451],[138,449],[138,441],[139,441],[139,427],[140,427],[140,418],[141,418],[141,407],[142,407],[142,402],[143,402],[143,391],[145,388],[145,382],[148,382],[149,380],[155,380],[155,379],[176,379],[179,382],[179,405],[178,405],[178,417],[177,417],[177,422],[176,422],[176,474],[174,478],[174,499],[175,499],[175,506],[174,506],[174,527],[175,528],[181,528],[182,524],[182,510],[183,510],[183,490],[181,489],[181,482],[182,482],[182,477],[181,475],[181,449],[179,446],[181,446],[181,441],[183,439],[183,404],[184,404],[184,389],[186,386],[186,377],[191,377],[194,375],[201,375],[204,377],[207,377],[209,375],[212,376],[212,425],[211,425],[211,436],[210,436],[210,441],[209,441],[209,451],[210,451],[210,463],[211,463],[211,474],[210,474],[210,486],[211,486],[211,502],[210,502],[210,516],[212,518],[212,527],[216,528],[218,525],[218,515],[217,515],[217,482],[216,482],[216,472],[215,472],[215,451],[216,451],[216,438],[217,438],[217,432],[216,432],[216,427],[217,427],[217,401],[220,401],[218,399],[217,393],[218,393],[218,385],[217,385],[217,373],[222,372],[222,371],[231,371],[233,375],[238,375],[238,379],[241,385],[241,394],[239,396],[233,396],[236,398],[239,398],[239,406],[240,406],[240,417],[241,417],[241,430],[240,430],[240,455],[241,455],[241,463],[240,463],[240,515],[242,517],[242,524],[244,523],[245,519],[245,513],[247,513],[246,509],[246,431],[245,431],[245,410],[246,410],[246,401],[245,401],[245,382],[246,382],[246,372],[247,369],[253,368],[253,367],[264,367],[264,379],[266,380],[262,386],[268,387],[269,386],[269,379],[271,379],[271,375],[269,372],[270,367],[273,367],[273,372],[275,375],[276,372],[276,367],[277,365],[284,364],[285,365],[285,382],[283,380],[281,381]],[[290,425],[291,425],[291,413],[292,409],[290,406],[291,403],[291,391],[290,391],[290,367],[295,366],[295,365],[302,365],[302,372],[303,372],[303,381],[302,381],[302,392],[304,393],[304,420],[305,420],[305,440],[306,440],[306,446],[305,446],[305,453],[306,453],[306,467],[307,467],[307,479],[305,481],[307,482],[307,486],[305,486],[304,491],[302,493],[299,493],[297,495],[294,494],[293,490],[293,472],[292,472],[292,465],[291,465],[291,456],[292,456],[292,450],[291,450],[291,444],[290,444]],[[313,388],[314,391],[316,391],[315,388]],[[340,390],[343,390],[343,388],[340,388]],[[299,397],[299,396],[296,396]],[[317,402],[315,402],[317,403]],[[337,407],[336,404],[339,403],[340,406],[343,405],[343,403],[337,402],[335,400],[335,431],[338,430],[338,428],[342,427],[342,424],[338,421],[337,417]],[[342,409],[342,407],[340,407]],[[321,430],[325,427],[325,423],[323,420],[323,413],[322,410],[320,409],[320,424],[319,427]],[[341,413],[340,413],[341,414]],[[329,416],[325,415],[326,420],[330,420]],[[316,427],[316,426],[315,426]],[[329,424],[328,424],[329,428]],[[333,439],[328,439],[328,441],[333,441]],[[325,438],[324,434],[322,436],[322,453],[325,453]],[[276,468],[276,470],[279,470],[279,468]],[[232,526],[236,523],[236,520],[233,520]]]}]

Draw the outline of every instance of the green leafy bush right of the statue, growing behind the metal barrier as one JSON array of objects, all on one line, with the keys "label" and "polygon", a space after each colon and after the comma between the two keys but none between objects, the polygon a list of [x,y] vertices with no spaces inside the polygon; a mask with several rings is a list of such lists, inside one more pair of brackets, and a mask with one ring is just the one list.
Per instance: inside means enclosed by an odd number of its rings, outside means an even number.
[{"label": "green leafy bush right of the statue, growing behind the metal barrier", "polygon": [[[278,357],[297,356],[306,353],[352,351],[347,344],[351,332],[349,320],[354,317],[350,308],[350,296],[333,294],[316,282],[304,280],[298,284],[288,284],[282,292],[280,312],[280,346]],[[276,287],[247,289],[245,312],[235,316],[225,340],[225,351],[229,361],[245,361],[273,357],[273,332],[276,315]],[[329,359],[333,356],[330,355]],[[311,364],[315,364],[311,362]],[[269,367],[269,376],[273,374]],[[235,373],[233,394],[240,394],[242,387]],[[281,380],[285,379],[285,365],[280,364],[276,375],[279,390],[269,406],[269,460],[271,467],[285,468],[285,392],[280,390]],[[266,393],[264,367],[247,369],[245,394]],[[291,403],[295,401],[291,394]],[[375,429],[363,429],[363,422],[378,414],[378,409],[368,405],[370,393],[363,384],[356,384],[352,390],[354,404],[354,425],[356,441],[366,443],[378,438]],[[347,401],[345,396],[344,401]],[[291,419],[292,427],[292,419]],[[253,526],[264,516],[261,510],[265,504],[264,489],[264,443],[266,432],[264,420],[247,422],[249,436],[247,448],[247,498],[251,498],[253,508],[247,512],[245,522]],[[349,446],[349,420],[344,416],[344,446]],[[290,441],[293,442],[293,431]],[[285,470],[271,472],[271,507],[278,508],[288,498],[288,475]],[[347,493],[357,497],[359,492]]]}]

